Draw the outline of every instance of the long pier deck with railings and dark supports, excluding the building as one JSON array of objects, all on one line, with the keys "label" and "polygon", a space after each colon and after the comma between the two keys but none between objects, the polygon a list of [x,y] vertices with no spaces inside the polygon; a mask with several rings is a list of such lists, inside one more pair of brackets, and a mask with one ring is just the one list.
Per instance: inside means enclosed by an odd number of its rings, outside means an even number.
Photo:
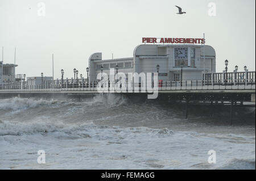
[{"label": "long pier deck with railings and dark supports, excluding the building", "polygon": [[[233,110],[236,107],[255,107],[255,72],[250,79],[207,79],[202,81],[173,81],[158,82],[157,100],[173,100],[184,104],[184,115],[188,118],[189,106],[225,106],[229,107],[230,125],[232,125]],[[42,81],[43,82],[43,81]],[[132,91],[103,92],[97,90],[98,82],[84,82],[82,79],[45,81],[41,85],[28,85],[27,82],[20,82],[19,85],[1,87],[0,98],[6,97],[58,97],[67,96],[81,100],[84,96],[94,96],[99,94],[118,94],[129,97],[147,98],[148,92],[141,90],[141,85],[133,85]],[[110,90],[110,82],[102,85]],[[134,89],[137,86],[138,90]],[[114,89],[117,83],[113,83]],[[119,87],[118,87],[119,88]],[[119,90],[119,89],[118,89]],[[250,104],[244,104],[251,102]],[[254,104],[253,104],[254,103]]]}]

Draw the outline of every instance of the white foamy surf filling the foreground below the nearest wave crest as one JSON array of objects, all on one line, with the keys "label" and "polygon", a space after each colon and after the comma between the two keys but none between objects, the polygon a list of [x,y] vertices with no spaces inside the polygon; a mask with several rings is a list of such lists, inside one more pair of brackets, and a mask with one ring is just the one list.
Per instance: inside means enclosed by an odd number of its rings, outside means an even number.
[{"label": "white foamy surf filling the foreground below the nearest wave crest", "polygon": [[[0,169],[255,169],[255,137],[242,135],[6,121],[0,135]],[[40,149],[47,164],[33,165]]]}]

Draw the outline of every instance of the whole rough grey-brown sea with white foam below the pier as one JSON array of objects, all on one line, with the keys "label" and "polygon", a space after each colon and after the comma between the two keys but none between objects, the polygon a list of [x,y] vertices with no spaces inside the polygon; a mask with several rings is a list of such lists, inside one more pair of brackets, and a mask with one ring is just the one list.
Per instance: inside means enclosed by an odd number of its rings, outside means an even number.
[{"label": "whole rough grey-brown sea with white foam below the pier", "polygon": [[[0,111],[0,169],[255,169],[255,125],[180,119],[181,110],[120,95],[0,99]],[[41,149],[45,165],[36,162]]]}]

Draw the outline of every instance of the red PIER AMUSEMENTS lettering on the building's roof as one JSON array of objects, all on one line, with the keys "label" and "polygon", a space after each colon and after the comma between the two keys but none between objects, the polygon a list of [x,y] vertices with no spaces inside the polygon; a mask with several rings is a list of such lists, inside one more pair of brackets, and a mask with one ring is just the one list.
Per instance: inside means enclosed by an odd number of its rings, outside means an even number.
[{"label": "red PIER AMUSEMENTS lettering on the building's roof", "polygon": [[183,43],[183,44],[204,44],[205,39],[177,38],[177,37],[143,37],[142,43]]}]

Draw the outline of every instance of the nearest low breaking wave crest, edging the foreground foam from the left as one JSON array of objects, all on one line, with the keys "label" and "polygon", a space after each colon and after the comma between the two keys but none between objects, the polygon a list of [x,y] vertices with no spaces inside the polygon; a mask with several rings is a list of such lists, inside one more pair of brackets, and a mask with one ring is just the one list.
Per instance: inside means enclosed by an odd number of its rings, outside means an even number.
[{"label": "nearest low breaking wave crest, edging the foreground foam from the left", "polygon": [[52,133],[52,132],[64,132],[66,134],[78,134],[81,132],[84,133],[95,133],[100,132],[109,132],[109,133],[154,133],[158,135],[168,135],[174,134],[173,131],[163,128],[163,129],[151,129],[145,127],[138,128],[122,128],[122,127],[109,127],[95,125],[93,123],[86,124],[64,124],[60,121],[51,122],[51,121],[36,121],[34,123],[22,123],[22,122],[10,122],[10,121],[1,121],[0,120],[0,136],[13,135],[13,136],[22,136],[29,134],[37,133]]}]

